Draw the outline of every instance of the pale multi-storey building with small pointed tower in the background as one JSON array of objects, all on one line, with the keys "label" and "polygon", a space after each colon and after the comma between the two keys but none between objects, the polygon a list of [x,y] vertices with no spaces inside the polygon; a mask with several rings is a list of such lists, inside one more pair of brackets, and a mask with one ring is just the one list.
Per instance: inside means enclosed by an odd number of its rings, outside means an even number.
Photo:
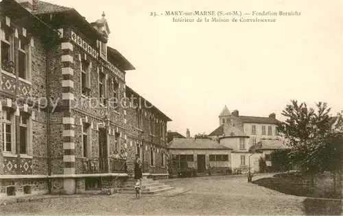
[{"label": "pale multi-storey building with small pointed tower in the background", "polygon": [[225,106],[219,120],[220,126],[209,137],[217,139],[222,146],[232,148],[232,168],[241,167],[246,170],[250,167],[257,172],[260,157],[268,161],[270,152],[285,148],[283,137],[277,131],[279,120],[276,120],[275,113],[268,117],[239,116],[238,110],[231,113]]}]

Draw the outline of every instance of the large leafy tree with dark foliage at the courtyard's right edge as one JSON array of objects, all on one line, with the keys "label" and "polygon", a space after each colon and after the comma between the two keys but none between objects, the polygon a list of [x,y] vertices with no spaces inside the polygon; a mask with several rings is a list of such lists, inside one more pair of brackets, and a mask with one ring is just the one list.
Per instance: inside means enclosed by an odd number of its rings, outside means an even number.
[{"label": "large leafy tree with dark foliage at the courtyard's right edge", "polygon": [[290,159],[311,176],[311,185],[314,185],[315,174],[324,171],[334,174],[340,170],[338,161],[342,148],[338,147],[342,144],[338,144],[338,137],[343,135],[342,115],[332,118],[327,103],[317,103],[315,111],[306,103],[291,102],[282,112],[287,120],[278,128],[290,147]]}]

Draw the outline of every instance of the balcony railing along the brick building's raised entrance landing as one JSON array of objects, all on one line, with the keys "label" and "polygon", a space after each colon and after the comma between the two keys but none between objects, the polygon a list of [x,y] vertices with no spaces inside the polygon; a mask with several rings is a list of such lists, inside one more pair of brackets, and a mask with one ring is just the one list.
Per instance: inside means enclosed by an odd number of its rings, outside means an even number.
[{"label": "balcony railing along the brick building's raised entrance landing", "polygon": [[125,173],[126,160],[108,157],[93,157],[82,159],[84,174]]}]

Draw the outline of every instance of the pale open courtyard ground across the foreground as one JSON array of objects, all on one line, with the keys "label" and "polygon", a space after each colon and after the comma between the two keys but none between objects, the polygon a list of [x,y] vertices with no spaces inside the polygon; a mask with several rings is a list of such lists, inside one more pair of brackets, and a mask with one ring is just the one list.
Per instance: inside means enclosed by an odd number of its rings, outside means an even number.
[{"label": "pale open courtyard ground across the foreground", "polygon": [[[263,178],[266,176],[257,176]],[[254,179],[255,180],[255,179]],[[341,215],[342,200],[311,200],[252,183],[245,176],[165,181],[176,191],[156,195],[73,195],[0,206],[3,215]],[[182,191],[185,193],[178,194]]]}]

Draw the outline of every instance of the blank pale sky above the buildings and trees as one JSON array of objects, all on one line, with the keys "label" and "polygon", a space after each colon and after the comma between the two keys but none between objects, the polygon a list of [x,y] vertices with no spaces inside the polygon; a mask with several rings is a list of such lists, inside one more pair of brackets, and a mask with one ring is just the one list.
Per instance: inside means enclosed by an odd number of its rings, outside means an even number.
[{"label": "blank pale sky above the buildings and trees", "polygon": [[[78,10],[88,22],[106,14],[109,46],[137,70],[126,81],[191,135],[219,126],[224,105],[244,116],[284,120],[289,100],[343,108],[343,1],[45,0]],[[169,10],[297,10],[276,23],[173,23]],[[248,17],[247,17],[248,18]],[[250,16],[251,18],[251,16]],[[262,17],[265,18],[265,17]]]}]

